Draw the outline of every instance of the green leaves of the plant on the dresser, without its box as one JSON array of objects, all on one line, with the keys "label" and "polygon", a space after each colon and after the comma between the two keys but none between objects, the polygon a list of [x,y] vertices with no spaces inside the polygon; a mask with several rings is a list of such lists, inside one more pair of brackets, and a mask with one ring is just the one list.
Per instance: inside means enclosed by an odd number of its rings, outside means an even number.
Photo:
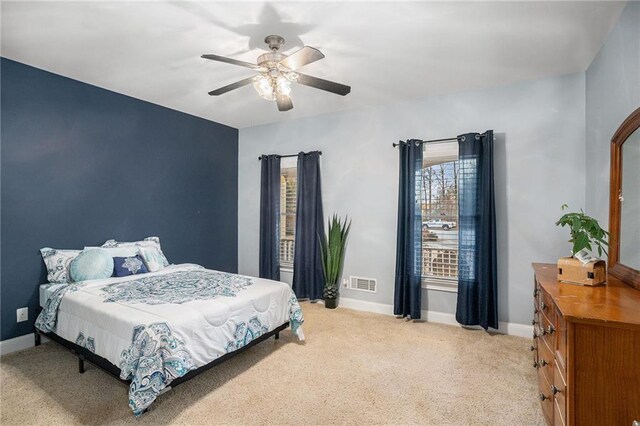
[{"label": "green leaves of the plant on the dresser, without its box", "polygon": [[[566,204],[562,205],[562,210],[568,209]],[[609,243],[607,237],[609,233],[600,227],[598,221],[587,216],[582,210],[580,212],[565,213],[558,221],[556,226],[568,226],[571,232],[570,243],[573,244],[571,255],[575,256],[581,250],[593,252],[594,247],[598,250],[598,255],[606,253],[606,247]]]}]

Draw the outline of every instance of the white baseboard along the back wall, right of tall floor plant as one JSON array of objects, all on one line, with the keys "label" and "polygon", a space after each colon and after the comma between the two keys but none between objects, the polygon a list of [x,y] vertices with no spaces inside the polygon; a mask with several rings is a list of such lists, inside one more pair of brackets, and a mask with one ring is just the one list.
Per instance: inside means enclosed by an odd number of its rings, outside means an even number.
[{"label": "white baseboard along the back wall, right of tall floor plant", "polygon": [[[354,309],[356,311],[365,311],[365,312],[373,312],[376,314],[383,315],[393,315],[393,306],[385,305],[384,303],[375,303],[375,302],[367,302],[364,300],[358,299],[349,299],[340,297],[339,307]],[[458,321],[456,321],[456,317],[454,314],[449,314],[446,312],[436,312],[436,311],[422,311],[422,319],[429,322],[437,322],[440,324],[448,324],[455,325],[458,327],[462,327]],[[532,337],[533,336],[533,326],[526,324],[517,324],[512,322],[500,322],[498,324],[499,329],[491,331],[495,331],[501,334],[508,334],[510,336],[520,336],[520,337]],[[467,328],[476,328],[476,327],[467,327]],[[481,329],[480,327],[477,327]]]}]

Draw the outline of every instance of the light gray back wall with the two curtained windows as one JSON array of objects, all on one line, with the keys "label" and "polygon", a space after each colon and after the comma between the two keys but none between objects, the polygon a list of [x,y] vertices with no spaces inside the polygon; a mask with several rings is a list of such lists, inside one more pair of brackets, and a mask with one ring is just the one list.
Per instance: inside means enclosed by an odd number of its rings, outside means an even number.
[{"label": "light gray back wall with the two curtained windows", "polygon": [[[392,304],[398,154],[391,143],[493,129],[500,320],[529,324],[531,262],[567,254],[567,232],[554,225],[560,206],[584,206],[584,85],[579,73],[241,129],[240,273],[258,273],[258,155],[318,149],[325,214],[353,219],[344,276],[378,279],[376,294],[343,288],[342,295]],[[455,312],[455,294],[424,295],[425,308]]]}]

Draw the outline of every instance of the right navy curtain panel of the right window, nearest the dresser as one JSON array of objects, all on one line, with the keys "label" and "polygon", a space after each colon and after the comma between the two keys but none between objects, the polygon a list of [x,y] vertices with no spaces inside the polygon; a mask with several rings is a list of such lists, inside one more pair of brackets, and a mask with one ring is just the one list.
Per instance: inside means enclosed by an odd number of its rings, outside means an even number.
[{"label": "right navy curtain panel of the right window, nearest the dresser", "polygon": [[458,136],[458,304],[464,325],[498,328],[493,131]]}]

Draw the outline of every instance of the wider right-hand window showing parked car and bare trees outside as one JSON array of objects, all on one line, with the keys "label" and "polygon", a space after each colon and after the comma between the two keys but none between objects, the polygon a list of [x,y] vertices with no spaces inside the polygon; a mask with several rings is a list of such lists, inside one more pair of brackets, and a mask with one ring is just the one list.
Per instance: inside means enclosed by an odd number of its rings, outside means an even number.
[{"label": "wider right-hand window showing parked car and bare trees outside", "polygon": [[426,288],[458,286],[458,142],[423,144],[422,282]]}]

